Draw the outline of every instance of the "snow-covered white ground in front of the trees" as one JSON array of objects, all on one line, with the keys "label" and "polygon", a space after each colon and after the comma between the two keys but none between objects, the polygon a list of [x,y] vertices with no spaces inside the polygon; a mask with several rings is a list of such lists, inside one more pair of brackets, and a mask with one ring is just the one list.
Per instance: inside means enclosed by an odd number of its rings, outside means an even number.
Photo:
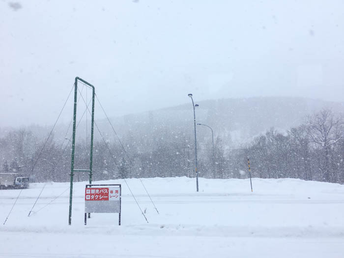
[{"label": "snow-covered white ground in front of the trees", "polygon": [[[68,226],[68,183],[48,183],[22,191],[0,190],[0,257],[219,258],[344,257],[344,186],[298,179],[138,179],[123,180],[122,225],[117,214],[92,214],[84,226],[86,182],[74,184],[72,225]],[[66,190],[68,189],[68,190]],[[55,197],[61,195],[57,200]],[[41,209],[44,207],[43,209]]]}]

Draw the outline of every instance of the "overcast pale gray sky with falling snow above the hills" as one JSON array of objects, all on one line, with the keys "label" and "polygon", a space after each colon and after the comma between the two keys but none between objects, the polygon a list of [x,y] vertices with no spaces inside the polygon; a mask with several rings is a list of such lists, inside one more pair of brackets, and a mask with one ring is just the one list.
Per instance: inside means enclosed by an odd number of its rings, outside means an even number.
[{"label": "overcast pale gray sky with falling snow above the hills", "polygon": [[188,93],[344,101],[343,0],[1,0],[0,49],[0,126],[54,123],[75,76],[109,115]]}]

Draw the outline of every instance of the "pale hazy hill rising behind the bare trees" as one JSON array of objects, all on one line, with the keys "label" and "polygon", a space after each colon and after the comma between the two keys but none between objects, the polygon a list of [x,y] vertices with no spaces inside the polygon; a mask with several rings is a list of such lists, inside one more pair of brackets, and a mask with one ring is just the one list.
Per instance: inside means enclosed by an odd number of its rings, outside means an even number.
[{"label": "pale hazy hill rising behind the bare trees", "polygon": [[[257,97],[245,99],[218,99],[195,102],[196,122],[212,127],[214,138],[220,137],[229,148],[247,143],[271,127],[284,132],[302,123],[307,115],[322,108],[343,112],[344,103],[295,97]],[[99,111],[101,112],[101,111]],[[191,101],[183,105],[120,117],[112,117],[115,130],[128,134],[149,136],[154,128],[172,133],[184,132],[193,137],[193,109]],[[102,130],[112,135],[106,120],[98,122]],[[198,140],[210,138],[207,128],[197,127]]]}]

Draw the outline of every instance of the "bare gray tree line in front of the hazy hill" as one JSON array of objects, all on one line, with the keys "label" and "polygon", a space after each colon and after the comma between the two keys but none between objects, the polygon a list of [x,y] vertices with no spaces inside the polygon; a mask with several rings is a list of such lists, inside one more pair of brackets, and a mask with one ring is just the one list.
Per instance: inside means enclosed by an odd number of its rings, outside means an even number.
[{"label": "bare gray tree line in front of the hazy hill", "polygon": [[[151,125],[144,130],[132,129],[121,136],[126,152],[115,138],[109,136],[106,143],[95,138],[93,180],[195,177],[193,133],[177,125],[172,128],[164,124]],[[220,137],[215,137],[214,146],[210,138],[198,139],[200,176],[246,178],[249,157],[253,177],[344,183],[344,119],[329,109],[307,116],[301,125],[287,131],[270,128],[243,146],[229,145]],[[85,139],[77,141],[75,168],[88,168],[89,147]],[[0,138],[0,149],[1,172],[20,172],[37,182],[69,180],[69,141],[51,137],[45,143],[44,139],[22,128]],[[87,178],[87,173],[76,172],[76,181]]]}]

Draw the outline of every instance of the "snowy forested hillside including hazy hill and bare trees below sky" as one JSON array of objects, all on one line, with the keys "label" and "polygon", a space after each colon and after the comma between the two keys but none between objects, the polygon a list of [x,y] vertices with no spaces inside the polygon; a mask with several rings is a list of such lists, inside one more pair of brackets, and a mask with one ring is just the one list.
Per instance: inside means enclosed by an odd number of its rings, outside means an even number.
[{"label": "snowy forested hillside including hazy hill and bare trees below sky", "polygon": [[[197,123],[214,131],[213,148],[211,131],[197,126],[201,176],[246,178],[247,157],[250,157],[256,177],[344,182],[343,103],[265,97],[198,104]],[[94,179],[195,176],[191,103],[111,121],[129,158],[107,121],[96,119],[106,143],[95,129]],[[34,176],[36,181],[69,179],[71,128],[68,125],[60,124],[44,148],[47,128],[36,125],[2,128],[0,132],[1,172],[18,171]],[[86,129],[86,122],[81,122],[77,131],[76,168],[88,167],[89,133],[89,125]],[[77,174],[76,180],[86,180],[87,176]]]}]

